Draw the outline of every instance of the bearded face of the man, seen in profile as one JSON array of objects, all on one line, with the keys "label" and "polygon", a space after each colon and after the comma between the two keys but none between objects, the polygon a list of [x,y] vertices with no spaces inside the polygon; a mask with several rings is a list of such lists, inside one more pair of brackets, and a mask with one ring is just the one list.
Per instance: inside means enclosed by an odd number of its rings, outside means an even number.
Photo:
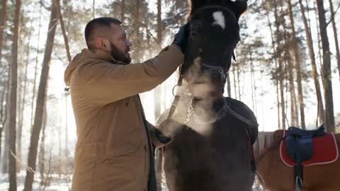
[{"label": "bearded face of the man, seen in profile", "polygon": [[109,52],[111,56],[120,62],[130,64],[131,57],[129,52],[132,43],[126,37],[125,30],[123,30],[120,25],[112,24],[109,34],[111,34],[108,37],[110,42]]}]

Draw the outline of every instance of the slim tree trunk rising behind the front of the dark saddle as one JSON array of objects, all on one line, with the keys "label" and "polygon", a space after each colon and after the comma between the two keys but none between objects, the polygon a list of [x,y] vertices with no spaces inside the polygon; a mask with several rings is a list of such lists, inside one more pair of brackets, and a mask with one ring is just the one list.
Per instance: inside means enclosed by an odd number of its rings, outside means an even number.
[{"label": "slim tree trunk rising behind the front of the dark saddle", "polygon": [[297,39],[295,34],[294,16],[291,0],[288,0],[288,12],[290,18],[290,28],[292,28],[293,35],[293,46],[294,46],[294,57],[295,57],[295,69],[297,76],[297,94],[299,96],[299,108],[300,108],[300,122],[302,129],[306,129],[305,124],[305,104],[303,103],[303,92],[302,92],[302,75],[301,75],[301,64],[300,64],[300,54],[299,47],[297,45]]}]

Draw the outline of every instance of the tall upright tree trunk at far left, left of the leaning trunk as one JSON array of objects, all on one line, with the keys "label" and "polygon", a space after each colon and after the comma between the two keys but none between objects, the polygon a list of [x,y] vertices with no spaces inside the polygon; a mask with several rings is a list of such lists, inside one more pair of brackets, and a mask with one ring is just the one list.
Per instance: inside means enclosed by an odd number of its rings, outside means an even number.
[{"label": "tall upright tree trunk at far left, left of the leaning trunk", "polygon": [[18,85],[18,38],[21,13],[21,0],[16,0],[16,13],[12,30],[13,45],[11,49],[11,98],[9,110],[9,152],[8,152],[8,173],[9,189],[16,191],[16,93]]}]

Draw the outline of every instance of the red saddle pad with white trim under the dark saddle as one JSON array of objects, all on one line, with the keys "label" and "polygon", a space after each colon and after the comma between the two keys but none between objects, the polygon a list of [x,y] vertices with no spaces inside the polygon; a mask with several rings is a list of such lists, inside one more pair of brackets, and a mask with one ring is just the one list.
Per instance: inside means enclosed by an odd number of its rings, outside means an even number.
[{"label": "red saddle pad with white trim under the dark saddle", "polygon": [[[283,131],[285,137],[285,130]],[[313,156],[302,162],[302,166],[314,166],[333,163],[339,158],[339,149],[334,134],[325,134],[322,137],[313,137]],[[280,158],[286,166],[295,166],[295,161],[288,156],[285,139],[280,143]]]}]

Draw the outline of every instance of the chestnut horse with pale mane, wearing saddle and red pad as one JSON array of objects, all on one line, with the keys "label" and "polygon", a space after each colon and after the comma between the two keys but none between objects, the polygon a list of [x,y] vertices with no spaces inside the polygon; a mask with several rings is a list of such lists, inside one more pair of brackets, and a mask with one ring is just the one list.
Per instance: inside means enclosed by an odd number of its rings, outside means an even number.
[{"label": "chestnut horse with pale mane, wearing saddle and red pad", "polygon": [[[295,190],[294,168],[283,163],[280,156],[280,143],[282,139],[283,130],[259,132],[259,137],[254,144],[259,180],[261,185],[266,188],[266,191]],[[339,154],[340,134],[335,134],[335,139]],[[327,164],[305,166],[303,168],[302,190],[340,190],[339,158]]]}]

